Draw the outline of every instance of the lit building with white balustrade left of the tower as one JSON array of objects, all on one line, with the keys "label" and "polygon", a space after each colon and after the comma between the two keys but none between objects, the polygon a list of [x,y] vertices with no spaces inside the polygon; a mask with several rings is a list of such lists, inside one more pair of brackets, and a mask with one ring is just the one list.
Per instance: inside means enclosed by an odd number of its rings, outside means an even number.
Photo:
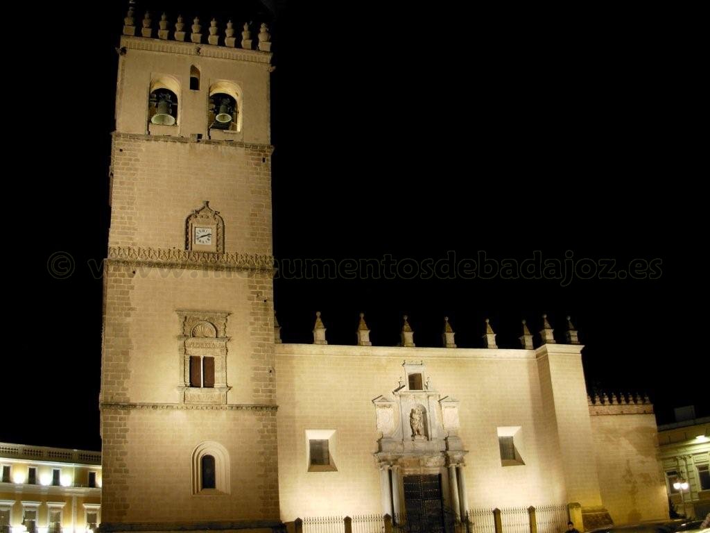
[{"label": "lit building with white balustrade left of the tower", "polygon": [[101,453],[0,443],[3,533],[89,533],[101,523]]}]

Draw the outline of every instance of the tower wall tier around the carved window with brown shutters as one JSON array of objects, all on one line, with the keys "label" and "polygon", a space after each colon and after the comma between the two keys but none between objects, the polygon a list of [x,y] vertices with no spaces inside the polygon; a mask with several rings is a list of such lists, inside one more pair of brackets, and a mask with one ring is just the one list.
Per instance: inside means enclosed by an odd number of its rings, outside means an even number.
[{"label": "tower wall tier around the carved window with brown shutters", "polygon": [[229,311],[226,372],[233,388],[227,400],[274,402],[271,274],[126,264],[109,270],[104,402],[178,402],[182,331],[176,309]]}]

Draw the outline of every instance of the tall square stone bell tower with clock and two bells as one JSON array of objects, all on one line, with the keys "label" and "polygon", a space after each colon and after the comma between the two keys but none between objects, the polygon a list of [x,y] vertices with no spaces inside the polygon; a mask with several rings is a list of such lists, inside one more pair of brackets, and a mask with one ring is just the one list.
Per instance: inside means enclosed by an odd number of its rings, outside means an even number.
[{"label": "tall square stone bell tower with clock and two bells", "polygon": [[155,18],[130,11],[117,49],[102,529],[268,531],[271,43],[266,25],[256,45],[247,25],[240,42],[231,22]]}]

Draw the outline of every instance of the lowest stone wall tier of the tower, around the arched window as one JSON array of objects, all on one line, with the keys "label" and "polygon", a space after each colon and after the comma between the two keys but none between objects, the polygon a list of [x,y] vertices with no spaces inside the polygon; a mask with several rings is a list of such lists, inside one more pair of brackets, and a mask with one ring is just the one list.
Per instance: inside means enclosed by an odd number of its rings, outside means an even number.
[{"label": "lowest stone wall tier of the tower, around the arched window", "polygon": [[[104,407],[102,417],[103,522],[278,519],[273,410]],[[203,441],[227,449],[231,495],[192,495]]]}]

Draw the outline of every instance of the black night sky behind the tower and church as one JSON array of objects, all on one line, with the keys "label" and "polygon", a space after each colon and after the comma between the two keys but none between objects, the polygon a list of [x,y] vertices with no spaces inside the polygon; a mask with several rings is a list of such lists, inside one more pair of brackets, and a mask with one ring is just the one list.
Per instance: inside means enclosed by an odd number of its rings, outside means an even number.
[{"label": "black night sky behind the tower and church", "polygon": [[[100,265],[126,6],[111,4],[21,16],[6,62],[6,80],[18,82],[6,86],[15,104],[4,124],[13,296],[0,441],[101,446]],[[517,348],[522,318],[537,346],[542,313],[558,341],[569,314],[590,391],[648,393],[661,423],[689,404],[710,415],[707,313],[687,304],[704,292],[694,254],[706,237],[681,203],[698,146],[679,119],[697,95],[679,90],[682,65],[659,36],[660,14],[653,24],[648,12],[581,8],[282,1],[274,15],[256,0],[231,4],[199,2],[204,33],[214,14],[221,28],[226,16],[236,28],[253,21],[255,39],[266,20],[273,34],[284,342],[312,342],[322,311],[329,343],[354,344],[364,311],[375,345],[398,343],[408,314],[419,346],[441,345],[449,316],[460,347],[483,346],[488,317],[498,346]],[[189,5],[139,2],[136,23],[148,6],[155,26],[170,6],[170,21],[179,11],[189,24]],[[488,271],[474,277],[484,256]],[[561,270],[536,268],[537,257]],[[297,259],[341,271],[307,279]],[[348,259],[386,262],[391,273],[373,279]],[[510,260],[525,259],[530,270],[515,279]],[[493,262],[506,268],[491,271]]]}]

